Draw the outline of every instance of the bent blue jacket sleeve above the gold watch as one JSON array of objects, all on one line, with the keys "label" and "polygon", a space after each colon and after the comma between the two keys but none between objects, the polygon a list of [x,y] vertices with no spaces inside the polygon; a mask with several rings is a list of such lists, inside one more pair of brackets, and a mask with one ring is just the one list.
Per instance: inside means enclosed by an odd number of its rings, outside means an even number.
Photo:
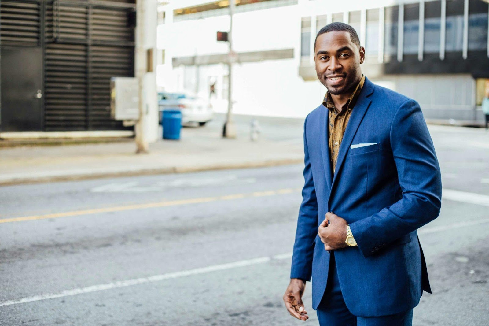
[{"label": "bent blue jacket sleeve above the gold watch", "polygon": [[401,104],[392,121],[390,142],[402,198],[378,213],[350,224],[365,257],[440,214],[440,165],[416,101],[407,100]]}]

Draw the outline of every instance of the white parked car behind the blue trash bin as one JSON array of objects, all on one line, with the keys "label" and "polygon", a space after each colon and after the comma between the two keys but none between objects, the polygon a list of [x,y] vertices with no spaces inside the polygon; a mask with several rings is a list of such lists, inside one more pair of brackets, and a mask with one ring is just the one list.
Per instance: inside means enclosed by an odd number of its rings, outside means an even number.
[{"label": "white parked car behind the blue trash bin", "polygon": [[205,125],[212,120],[212,105],[208,100],[186,93],[158,93],[159,123],[165,110],[179,110],[182,113],[182,124],[199,123]]}]

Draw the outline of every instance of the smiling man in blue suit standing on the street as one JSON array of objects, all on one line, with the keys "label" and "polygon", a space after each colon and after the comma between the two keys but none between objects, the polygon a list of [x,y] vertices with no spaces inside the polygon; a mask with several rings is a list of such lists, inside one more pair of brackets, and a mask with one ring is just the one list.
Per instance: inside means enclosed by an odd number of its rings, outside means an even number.
[{"label": "smiling man in blue suit standing on the street", "polygon": [[305,184],[284,295],[307,320],[312,278],[321,326],[408,326],[431,293],[416,230],[441,207],[441,175],[419,104],[362,75],[365,49],[350,25],[316,36],[328,92],[304,123]]}]

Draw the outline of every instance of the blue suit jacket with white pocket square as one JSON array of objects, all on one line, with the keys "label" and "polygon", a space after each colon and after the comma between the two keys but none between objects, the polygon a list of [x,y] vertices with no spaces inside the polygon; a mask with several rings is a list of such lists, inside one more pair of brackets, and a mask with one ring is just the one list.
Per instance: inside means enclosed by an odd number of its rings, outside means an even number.
[{"label": "blue suit jacket with white pocket square", "polygon": [[[359,143],[375,144],[351,148]],[[419,104],[365,78],[334,176],[323,105],[306,117],[304,153],[305,184],[290,277],[312,277],[316,309],[330,262],[317,228],[333,211],[350,224],[358,244],[334,251],[348,309],[368,317],[415,307],[422,290],[431,292],[416,230],[439,215],[442,190]]]}]

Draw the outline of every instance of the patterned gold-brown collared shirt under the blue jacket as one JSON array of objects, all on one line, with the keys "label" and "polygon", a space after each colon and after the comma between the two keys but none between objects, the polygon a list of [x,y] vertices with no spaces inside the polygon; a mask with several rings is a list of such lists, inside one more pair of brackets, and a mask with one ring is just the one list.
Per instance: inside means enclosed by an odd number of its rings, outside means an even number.
[{"label": "patterned gold-brown collared shirt under the blue jacket", "polygon": [[355,92],[348,98],[345,105],[341,108],[341,112],[338,112],[334,107],[331,94],[326,92],[324,96],[323,105],[328,108],[328,132],[329,132],[329,147],[331,164],[333,167],[333,173],[336,170],[336,160],[338,159],[338,150],[345,134],[346,126],[350,120],[352,109],[355,106],[356,99],[362,90],[363,83],[365,82],[365,76],[362,75],[360,82],[356,86]]}]

